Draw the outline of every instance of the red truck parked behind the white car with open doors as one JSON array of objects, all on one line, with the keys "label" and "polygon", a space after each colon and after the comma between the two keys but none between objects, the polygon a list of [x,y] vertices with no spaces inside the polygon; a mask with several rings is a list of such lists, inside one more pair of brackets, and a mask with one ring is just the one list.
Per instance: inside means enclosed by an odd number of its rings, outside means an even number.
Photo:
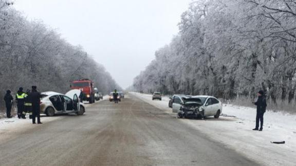
[{"label": "red truck parked behind the white car with open doors", "polygon": [[94,82],[90,79],[79,79],[72,81],[71,89],[82,90],[83,100],[89,103],[95,102]]}]

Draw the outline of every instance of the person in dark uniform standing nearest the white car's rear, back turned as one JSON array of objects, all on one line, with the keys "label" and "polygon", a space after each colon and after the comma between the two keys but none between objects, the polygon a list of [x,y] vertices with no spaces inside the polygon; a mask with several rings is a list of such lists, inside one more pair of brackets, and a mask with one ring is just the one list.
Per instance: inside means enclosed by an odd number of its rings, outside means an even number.
[{"label": "person in dark uniform standing nearest the white car's rear, back turned", "polygon": [[36,117],[37,117],[37,122],[38,124],[42,124],[42,122],[40,121],[40,98],[41,98],[41,94],[37,91],[37,87],[36,86],[32,86],[32,91],[29,94],[29,97],[31,99],[32,102],[32,122],[33,124],[36,123]]}]

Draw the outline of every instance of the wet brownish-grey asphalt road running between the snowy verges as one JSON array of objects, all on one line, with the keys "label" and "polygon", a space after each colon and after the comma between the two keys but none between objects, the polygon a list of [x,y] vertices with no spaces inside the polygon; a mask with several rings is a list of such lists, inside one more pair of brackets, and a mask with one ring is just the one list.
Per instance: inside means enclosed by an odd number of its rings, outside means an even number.
[{"label": "wet brownish-grey asphalt road running between the snowy verges", "polygon": [[257,165],[132,95],[28,125],[0,142],[0,165]]}]

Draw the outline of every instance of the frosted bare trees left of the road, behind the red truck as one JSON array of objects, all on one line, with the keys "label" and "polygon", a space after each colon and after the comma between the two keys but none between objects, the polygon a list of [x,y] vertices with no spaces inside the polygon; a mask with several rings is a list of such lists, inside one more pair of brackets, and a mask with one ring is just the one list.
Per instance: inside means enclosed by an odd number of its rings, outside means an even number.
[{"label": "frosted bare trees left of the road, behind the red truck", "polygon": [[[32,85],[40,91],[65,93],[76,79],[94,80],[95,87],[108,93],[120,87],[93,57],[73,46],[40,20],[27,20],[0,0],[0,97]],[[2,99],[1,99],[2,100]]]}]

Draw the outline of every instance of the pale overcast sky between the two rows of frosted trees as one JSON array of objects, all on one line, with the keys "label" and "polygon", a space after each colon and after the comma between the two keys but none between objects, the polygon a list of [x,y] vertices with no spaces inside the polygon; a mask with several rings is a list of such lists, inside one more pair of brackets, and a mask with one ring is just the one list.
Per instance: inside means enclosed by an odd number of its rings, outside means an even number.
[{"label": "pale overcast sky between the two rows of frosted trees", "polygon": [[104,65],[122,88],[178,33],[191,0],[16,0],[28,19],[42,19]]}]

